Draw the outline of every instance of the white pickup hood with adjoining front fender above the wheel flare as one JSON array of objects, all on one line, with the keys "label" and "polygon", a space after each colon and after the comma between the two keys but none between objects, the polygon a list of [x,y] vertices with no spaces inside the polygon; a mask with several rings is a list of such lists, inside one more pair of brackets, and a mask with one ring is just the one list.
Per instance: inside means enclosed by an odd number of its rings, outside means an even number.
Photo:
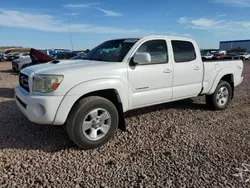
[{"label": "white pickup hood with adjoining front fender above the wheel flare", "polygon": [[[63,75],[60,87],[47,95],[65,95],[72,87],[93,80],[127,80],[127,65],[124,62],[90,60],[64,60],[48,62],[22,69],[21,73]],[[31,78],[32,79],[32,78]],[[108,87],[108,86],[107,86]]]}]

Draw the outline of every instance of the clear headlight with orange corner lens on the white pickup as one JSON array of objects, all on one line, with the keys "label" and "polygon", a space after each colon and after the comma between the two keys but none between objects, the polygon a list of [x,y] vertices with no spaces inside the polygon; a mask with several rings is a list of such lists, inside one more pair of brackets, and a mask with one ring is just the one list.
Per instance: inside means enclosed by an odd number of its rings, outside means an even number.
[{"label": "clear headlight with orange corner lens on the white pickup", "polygon": [[33,92],[49,93],[55,91],[63,80],[63,75],[37,75],[33,79]]}]

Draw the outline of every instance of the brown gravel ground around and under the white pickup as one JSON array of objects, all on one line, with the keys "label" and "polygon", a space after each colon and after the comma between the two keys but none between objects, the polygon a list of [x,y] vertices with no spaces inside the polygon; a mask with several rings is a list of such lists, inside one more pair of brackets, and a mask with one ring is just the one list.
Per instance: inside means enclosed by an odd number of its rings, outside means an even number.
[{"label": "brown gravel ground around and under the white pickup", "polygon": [[250,61],[226,110],[199,97],[129,112],[128,131],[92,151],[21,114],[10,68],[0,63],[0,187],[250,187]]}]

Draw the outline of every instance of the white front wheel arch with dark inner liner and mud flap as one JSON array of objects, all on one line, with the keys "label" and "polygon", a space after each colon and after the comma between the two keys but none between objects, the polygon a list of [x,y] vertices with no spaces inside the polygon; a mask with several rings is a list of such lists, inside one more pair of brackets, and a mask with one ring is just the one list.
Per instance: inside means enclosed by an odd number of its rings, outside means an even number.
[{"label": "white front wheel arch with dark inner liner and mud flap", "polygon": [[[108,82],[108,83],[107,83]],[[88,87],[94,85],[94,87]],[[109,87],[107,87],[109,85]],[[60,106],[58,107],[53,124],[62,125],[66,122],[73,107],[83,98],[99,96],[110,100],[119,113],[119,128],[125,130],[124,111],[128,108],[125,85],[119,80],[95,80],[81,83],[67,92]]]}]

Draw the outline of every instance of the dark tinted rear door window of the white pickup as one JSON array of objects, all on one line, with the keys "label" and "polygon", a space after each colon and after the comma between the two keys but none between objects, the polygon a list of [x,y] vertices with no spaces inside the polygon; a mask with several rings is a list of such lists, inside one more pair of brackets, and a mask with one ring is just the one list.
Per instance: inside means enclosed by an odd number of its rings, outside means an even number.
[{"label": "dark tinted rear door window of the white pickup", "polygon": [[195,49],[191,42],[172,40],[171,43],[176,63],[189,62],[196,59]]}]

